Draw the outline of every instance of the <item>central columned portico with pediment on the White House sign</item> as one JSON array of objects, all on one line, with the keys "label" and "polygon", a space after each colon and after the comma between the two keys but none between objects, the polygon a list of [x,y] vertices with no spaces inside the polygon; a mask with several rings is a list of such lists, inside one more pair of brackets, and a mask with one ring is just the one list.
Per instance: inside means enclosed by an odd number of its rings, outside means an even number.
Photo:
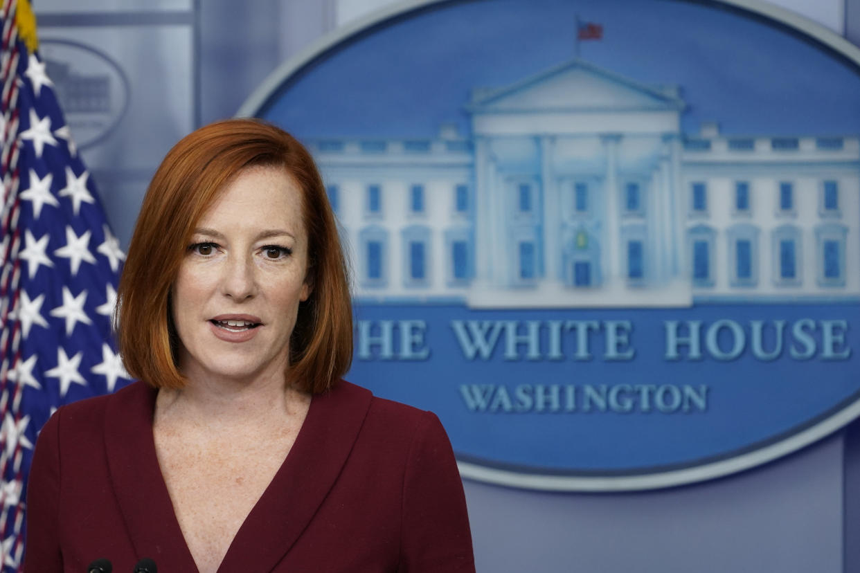
[{"label": "central columned portico with pediment on the White House sign", "polygon": [[[687,303],[689,288],[684,291],[683,284],[673,285],[672,292],[663,288],[677,275],[675,269],[684,265],[674,195],[681,159],[679,114],[684,105],[671,90],[626,81],[578,60],[528,82],[476,90],[467,107],[479,196],[476,279],[470,305],[566,308],[574,301],[589,307]],[[668,138],[660,141],[662,134]],[[628,175],[641,186],[641,204],[630,213],[624,200]],[[574,212],[568,229],[562,208],[575,200],[568,197],[574,191],[568,181],[576,177],[587,183],[588,194],[585,212],[576,213],[575,204],[570,205]],[[527,206],[519,203],[525,184],[533,198]],[[575,248],[571,261],[587,259],[591,266],[580,269],[590,272],[591,288],[570,289],[564,241],[575,243],[580,230],[587,233],[582,235],[587,240],[579,248],[570,244]],[[628,236],[644,241],[644,281],[627,279],[624,241]],[[530,246],[522,253],[521,242]],[[529,250],[532,242],[533,252]],[[531,270],[529,277],[521,275],[525,269],[520,268],[521,256],[534,257],[533,276]]]}]

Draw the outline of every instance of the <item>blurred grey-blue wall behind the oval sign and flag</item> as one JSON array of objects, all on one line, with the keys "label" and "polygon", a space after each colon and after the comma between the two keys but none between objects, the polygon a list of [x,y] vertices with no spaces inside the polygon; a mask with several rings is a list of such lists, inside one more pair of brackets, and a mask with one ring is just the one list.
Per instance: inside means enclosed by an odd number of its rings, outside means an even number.
[{"label": "blurred grey-blue wall behind the oval sign and flag", "polygon": [[[324,34],[390,3],[34,3],[49,74],[77,86],[60,99],[123,247],[173,143],[234,115],[279,64]],[[860,0],[771,3],[860,42]],[[94,77],[113,77],[114,88],[88,108],[80,90],[98,89]],[[699,485],[554,494],[467,481],[465,490],[480,571],[860,571],[857,422],[782,460]]]}]

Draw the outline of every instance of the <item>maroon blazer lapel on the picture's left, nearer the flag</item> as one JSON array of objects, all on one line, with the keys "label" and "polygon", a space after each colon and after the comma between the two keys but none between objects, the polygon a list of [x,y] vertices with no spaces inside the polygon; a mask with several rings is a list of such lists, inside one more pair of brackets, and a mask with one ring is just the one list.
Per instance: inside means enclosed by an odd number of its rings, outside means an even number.
[{"label": "maroon blazer lapel on the picture's left, nearer the flag", "polygon": [[108,401],[107,466],[137,558],[152,558],[165,570],[196,571],[158,466],[152,436],[156,394],[138,381]]}]

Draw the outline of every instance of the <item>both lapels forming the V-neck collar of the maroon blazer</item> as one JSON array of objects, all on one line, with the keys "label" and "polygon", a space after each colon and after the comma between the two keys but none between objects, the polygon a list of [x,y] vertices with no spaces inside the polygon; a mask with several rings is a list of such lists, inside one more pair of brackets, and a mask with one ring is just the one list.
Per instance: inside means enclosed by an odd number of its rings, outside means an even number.
[{"label": "both lapels forming the V-neck collar of the maroon blazer", "polygon": [[[108,400],[107,465],[137,557],[169,570],[196,571],[158,466],[152,434],[156,395],[155,388],[138,381]],[[369,391],[346,381],[311,399],[290,453],[239,527],[218,571],[270,571],[284,558],[335,484],[370,403]]]}]

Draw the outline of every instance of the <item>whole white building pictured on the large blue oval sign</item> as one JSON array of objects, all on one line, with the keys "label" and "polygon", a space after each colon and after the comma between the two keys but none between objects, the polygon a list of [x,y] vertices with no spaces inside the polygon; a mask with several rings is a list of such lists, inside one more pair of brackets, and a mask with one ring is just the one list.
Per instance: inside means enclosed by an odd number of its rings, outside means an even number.
[{"label": "whole white building pictured on the large blue oval sign", "polygon": [[680,131],[679,88],[574,59],[472,132],[315,139],[356,296],[473,308],[860,296],[860,143]]}]

